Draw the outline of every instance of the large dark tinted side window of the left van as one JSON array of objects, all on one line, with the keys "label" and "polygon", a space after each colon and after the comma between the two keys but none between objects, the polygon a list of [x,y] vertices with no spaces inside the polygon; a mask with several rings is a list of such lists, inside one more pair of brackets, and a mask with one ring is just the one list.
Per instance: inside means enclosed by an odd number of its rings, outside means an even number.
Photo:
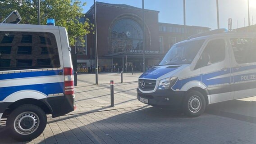
[{"label": "large dark tinted side window of the left van", "polygon": [[0,31],[0,70],[54,67],[60,67],[54,34]]}]

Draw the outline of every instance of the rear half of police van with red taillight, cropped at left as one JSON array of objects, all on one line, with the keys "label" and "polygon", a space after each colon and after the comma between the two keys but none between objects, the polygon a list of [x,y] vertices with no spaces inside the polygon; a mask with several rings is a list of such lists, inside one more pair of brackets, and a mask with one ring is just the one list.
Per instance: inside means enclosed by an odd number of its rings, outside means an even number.
[{"label": "rear half of police van with red taillight, cropped at left", "polygon": [[64,27],[0,23],[0,120],[14,139],[76,108],[70,51]]}]

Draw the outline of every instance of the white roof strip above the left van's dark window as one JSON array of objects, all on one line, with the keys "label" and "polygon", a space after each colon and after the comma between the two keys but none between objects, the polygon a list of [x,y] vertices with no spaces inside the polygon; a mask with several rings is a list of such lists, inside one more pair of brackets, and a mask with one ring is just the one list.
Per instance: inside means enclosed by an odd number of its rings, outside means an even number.
[{"label": "white roof strip above the left van's dark window", "polygon": [[59,26],[47,26],[47,25],[33,25],[33,24],[9,24],[0,23],[0,28],[4,29],[47,29],[47,30],[58,30]]}]

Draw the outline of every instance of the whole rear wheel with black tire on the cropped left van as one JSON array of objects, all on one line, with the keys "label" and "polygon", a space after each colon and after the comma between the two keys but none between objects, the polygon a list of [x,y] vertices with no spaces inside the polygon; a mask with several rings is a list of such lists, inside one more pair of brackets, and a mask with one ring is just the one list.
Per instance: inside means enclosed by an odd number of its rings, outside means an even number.
[{"label": "whole rear wheel with black tire on the cropped left van", "polygon": [[10,113],[6,127],[14,139],[28,141],[41,135],[46,123],[46,113],[41,108],[32,104],[24,104]]}]

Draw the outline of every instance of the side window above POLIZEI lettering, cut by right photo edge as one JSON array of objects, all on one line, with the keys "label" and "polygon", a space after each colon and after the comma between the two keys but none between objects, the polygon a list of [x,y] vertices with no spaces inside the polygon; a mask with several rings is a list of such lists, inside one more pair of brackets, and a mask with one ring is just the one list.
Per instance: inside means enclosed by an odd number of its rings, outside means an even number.
[{"label": "side window above POLIZEI lettering, cut by right photo edge", "polygon": [[256,38],[231,38],[233,53],[237,63],[256,62]]}]

